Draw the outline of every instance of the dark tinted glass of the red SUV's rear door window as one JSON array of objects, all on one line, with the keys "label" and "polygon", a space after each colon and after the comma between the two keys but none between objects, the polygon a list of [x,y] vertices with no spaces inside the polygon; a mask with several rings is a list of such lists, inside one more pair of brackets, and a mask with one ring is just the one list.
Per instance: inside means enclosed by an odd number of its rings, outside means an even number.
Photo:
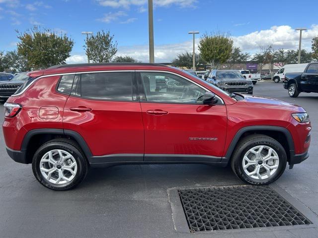
[{"label": "dark tinted glass of the red SUV's rear door window", "polygon": [[132,101],[133,72],[83,73],[72,95],[89,99]]}]

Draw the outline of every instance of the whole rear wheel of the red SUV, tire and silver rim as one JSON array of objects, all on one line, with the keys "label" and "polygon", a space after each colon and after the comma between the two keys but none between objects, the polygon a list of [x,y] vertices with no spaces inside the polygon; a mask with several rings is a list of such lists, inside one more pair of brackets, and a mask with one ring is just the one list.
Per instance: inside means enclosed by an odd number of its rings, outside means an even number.
[{"label": "whole rear wheel of the red SUV, tire and silver rim", "polygon": [[75,142],[61,138],[43,144],[35,152],[32,170],[43,186],[68,190],[85,178],[88,163]]}]

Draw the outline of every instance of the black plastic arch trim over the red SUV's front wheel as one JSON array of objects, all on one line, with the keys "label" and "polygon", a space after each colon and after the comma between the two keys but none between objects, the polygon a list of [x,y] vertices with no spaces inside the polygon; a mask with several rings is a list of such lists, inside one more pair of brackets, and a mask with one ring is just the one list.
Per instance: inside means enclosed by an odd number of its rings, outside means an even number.
[{"label": "black plastic arch trim over the red SUV's front wheel", "polygon": [[245,132],[260,131],[260,130],[282,132],[286,136],[288,147],[289,147],[289,152],[290,152],[289,163],[290,164],[293,163],[293,158],[295,157],[295,146],[294,146],[293,137],[292,137],[290,131],[285,127],[273,126],[273,125],[252,125],[252,126],[245,126],[241,129],[239,129],[239,131],[236,133],[236,135],[232,139],[232,142],[227,150],[225,157],[223,157],[222,162],[229,163],[229,161],[231,160],[232,154],[234,152],[234,149],[237,146],[237,144],[239,143],[239,138]]}]

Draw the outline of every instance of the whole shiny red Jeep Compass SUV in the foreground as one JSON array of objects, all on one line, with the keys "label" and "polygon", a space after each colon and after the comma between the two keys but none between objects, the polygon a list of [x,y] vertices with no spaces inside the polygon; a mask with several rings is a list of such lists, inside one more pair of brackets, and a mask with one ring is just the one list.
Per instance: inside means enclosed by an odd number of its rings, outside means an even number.
[{"label": "whole shiny red Jeep Compass SUV in the foreground", "polygon": [[89,167],[227,166],[251,184],[308,158],[306,111],[233,94],[160,64],[70,64],[28,73],[4,104],[6,150],[39,182],[66,190]]}]

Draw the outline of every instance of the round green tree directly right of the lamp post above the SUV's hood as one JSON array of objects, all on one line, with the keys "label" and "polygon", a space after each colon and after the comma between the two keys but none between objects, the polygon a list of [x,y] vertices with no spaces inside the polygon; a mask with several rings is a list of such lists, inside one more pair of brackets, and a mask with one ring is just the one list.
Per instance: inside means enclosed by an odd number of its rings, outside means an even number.
[{"label": "round green tree directly right of the lamp post above the SUV's hood", "polygon": [[199,42],[199,50],[203,60],[217,69],[221,63],[230,59],[233,48],[232,38],[225,33],[205,34]]}]

